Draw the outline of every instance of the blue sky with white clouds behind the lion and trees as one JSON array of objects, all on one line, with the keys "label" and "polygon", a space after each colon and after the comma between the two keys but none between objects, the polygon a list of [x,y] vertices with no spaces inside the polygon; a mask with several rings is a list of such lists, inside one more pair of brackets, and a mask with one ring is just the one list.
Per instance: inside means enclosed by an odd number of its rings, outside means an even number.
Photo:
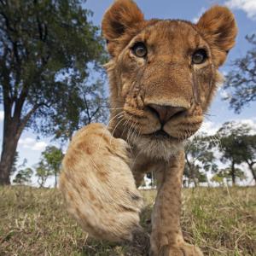
[{"label": "blue sky with white clouds behind the lion and trees", "polygon": [[[245,36],[256,32],[256,0],[137,0],[137,5],[143,10],[146,19],[183,19],[195,21],[200,15],[210,8],[213,4],[224,4],[230,7],[236,15],[236,21],[239,27],[236,47],[230,51],[228,60],[222,72],[227,73],[230,70],[230,61],[245,55],[250,45],[247,44]],[[94,24],[100,26],[102,15],[108,9],[112,0],[87,0],[84,4],[86,9],[91,9],[94,13],[91,20]],[[256,102],[249,107],[244,108],[241,114],[235,114],[229,109],[227,102],[221,100],[221,96],[225,94],[224,90],[218,90],[218,95],[212,103],[212,108],[207,116],[206,123],[203,126],[204,131],[213,133],[222,123],[227,120],[236,119],[247,122],[256,127]],[[3,126],[3,112],[0,112],[0,125]],[[3,131],[3,128],[0,128]],[[20,162],[24,158],[28,160],[28,166],[33,166],[38,162],[39,156],[44,148],[50,143],[50,138],[37,139],[38,135],[31,131],[25,131],[18,147],[20,154]],[[2,139],[1,139],[2,143]],[[54,143],[58,145],[58,142]],[[33,183],[36,181],[34,180]]]}]

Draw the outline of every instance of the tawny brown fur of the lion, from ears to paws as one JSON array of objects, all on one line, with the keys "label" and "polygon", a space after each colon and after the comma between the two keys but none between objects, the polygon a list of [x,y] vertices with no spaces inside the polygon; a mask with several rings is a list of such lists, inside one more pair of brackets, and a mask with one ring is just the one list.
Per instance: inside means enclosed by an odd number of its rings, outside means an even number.
[{"label": "tawny brown fur of the lion, from ears to paws", "polygon": [[[90,235],[131,239],[143,206],[136,186],[153,170],[158,194],[151,254],[202,255],[183,241],[180,227],[183,142],[201,126],[236,31],[234,16],[221,6],[197,24],[144,20],[131,0],[117,0],[108,9],[102,32],[112,55],[106,65],[111,119],[108,127],[87,125],[73,137],[60,180],[69,212]],[[133,54],[137,42],[147,46],[147,57]],[[207,61],[195,65],[191,56],[197,49],[207,51]],[[183,111],[172,116],[170,109]]]}]

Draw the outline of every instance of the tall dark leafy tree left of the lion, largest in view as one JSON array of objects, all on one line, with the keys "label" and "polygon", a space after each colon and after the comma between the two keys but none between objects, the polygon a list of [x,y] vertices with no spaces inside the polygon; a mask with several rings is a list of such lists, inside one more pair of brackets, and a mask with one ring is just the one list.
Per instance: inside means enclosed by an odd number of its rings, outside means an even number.
[{"label": "tall dark leafy tree left of the lion, largest in view", "polygon": [[[82,9],[82,2],[0,1],[0,103],[4,111],[0,184],[10,183],[24,129],[71,137],[81,125],[79,113],[84,111],[90,67],[99,70],[98,64],[105,60],[99,29],[88,21],[91,12]],[[102,84],[96,83],[90,90],[99,87]],[[94,95],[87,99],[98,101]]]}]

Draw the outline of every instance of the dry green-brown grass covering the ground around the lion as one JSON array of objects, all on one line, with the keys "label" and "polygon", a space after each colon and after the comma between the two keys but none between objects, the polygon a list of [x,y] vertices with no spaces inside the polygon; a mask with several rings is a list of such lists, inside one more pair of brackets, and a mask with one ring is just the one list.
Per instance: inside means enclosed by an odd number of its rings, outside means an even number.
[{"label": "dry green-brown grass covering the ground around the lion", "polygon": [[[143,191],[148,219],[154,191]],[[256,189],[184,189],[183,235],[206,255],[256,255]],[[140,239],[140,238],[138,238]],[[143,244],[144,243],[144,244]],[[146,242],[90,239],[65,211],[55,189],[0,188],[0,255],[144,255]]]}]

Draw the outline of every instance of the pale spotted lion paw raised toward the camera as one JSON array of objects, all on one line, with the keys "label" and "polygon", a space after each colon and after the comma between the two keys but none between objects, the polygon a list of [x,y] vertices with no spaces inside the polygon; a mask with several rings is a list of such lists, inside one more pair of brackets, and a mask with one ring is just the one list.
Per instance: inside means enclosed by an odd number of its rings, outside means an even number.
[{"label": "pale spotted lion paw raised toward the camera", "polygon": [[104,125],[84,127],[63,160],[60,189],[69,212],[96,238],[130,240],[143,199],[129,167],[128,145]]}]

